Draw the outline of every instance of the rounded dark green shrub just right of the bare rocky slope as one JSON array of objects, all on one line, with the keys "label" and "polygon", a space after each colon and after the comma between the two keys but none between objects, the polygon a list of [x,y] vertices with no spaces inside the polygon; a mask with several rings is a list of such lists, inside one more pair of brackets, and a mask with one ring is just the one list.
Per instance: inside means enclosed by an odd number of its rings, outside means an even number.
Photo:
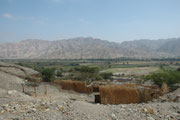
[{"label": "rounded dark green shrub just right of the bare rocky slope", "polygon": [[55,79],[54,69],[45,68],[42,70],[42,78],[45,82],[52,82]]}]

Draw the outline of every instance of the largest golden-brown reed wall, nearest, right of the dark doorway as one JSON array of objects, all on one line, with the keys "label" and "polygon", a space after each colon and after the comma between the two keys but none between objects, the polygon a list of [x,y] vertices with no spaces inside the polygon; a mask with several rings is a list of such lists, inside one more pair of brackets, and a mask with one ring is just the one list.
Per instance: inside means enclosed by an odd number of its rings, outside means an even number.
[{"label": "largest golden-brown reed wall, nearest, right of the dark doorway", "polygon": [[102,104],[139,103],[139,95],[135,84],[100,86]]}]

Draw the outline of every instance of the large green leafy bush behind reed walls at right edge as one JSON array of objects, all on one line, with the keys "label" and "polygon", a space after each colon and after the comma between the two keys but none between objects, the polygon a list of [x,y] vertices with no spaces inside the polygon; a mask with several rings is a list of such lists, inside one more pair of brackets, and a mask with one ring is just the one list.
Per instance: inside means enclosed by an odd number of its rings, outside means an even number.
[{"label": "large green leafy bush behind reed walls at right edge", "polygon": [[176,84],[180,83],[180,72],[162,69],[161,71],[147,75],[145,80],[151,80],[159,87],[163,83],[166,83],[170,88],[173,88]]}]

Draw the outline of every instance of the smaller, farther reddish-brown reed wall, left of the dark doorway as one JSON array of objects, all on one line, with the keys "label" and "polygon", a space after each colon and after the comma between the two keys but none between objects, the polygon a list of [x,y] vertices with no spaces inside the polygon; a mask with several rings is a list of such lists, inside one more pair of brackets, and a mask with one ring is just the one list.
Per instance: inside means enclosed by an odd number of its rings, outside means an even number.
[{"label": "smaller, farther reddish-brown reed wall, left of the dark doorway", "polygon": [[61,80],[60,82],[62,89],[73,90],[79,93],[92,93],[92,87],[87,87],[85,82],[72,81],[72,80]]}]

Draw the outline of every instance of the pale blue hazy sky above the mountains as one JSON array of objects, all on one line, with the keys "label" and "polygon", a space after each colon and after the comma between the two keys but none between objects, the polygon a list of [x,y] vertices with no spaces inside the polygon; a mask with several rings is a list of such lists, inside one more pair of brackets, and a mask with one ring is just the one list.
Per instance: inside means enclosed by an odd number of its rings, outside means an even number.
[{"label": "pale blue hazy sky above the mountains", "polygon": [[0,42],[180,37],[180,0],[0,0]]}]

